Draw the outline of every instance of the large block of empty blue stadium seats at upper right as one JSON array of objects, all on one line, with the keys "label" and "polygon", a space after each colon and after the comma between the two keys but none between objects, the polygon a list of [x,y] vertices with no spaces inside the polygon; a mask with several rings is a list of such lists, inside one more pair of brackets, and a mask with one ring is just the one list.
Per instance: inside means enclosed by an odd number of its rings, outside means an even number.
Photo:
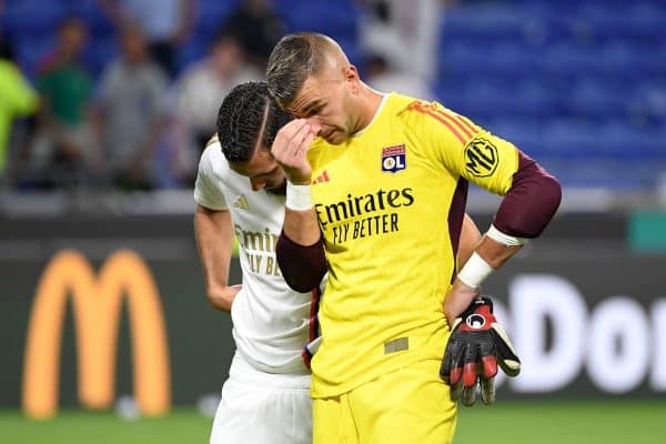
[{"label": "large block of empty blue stadium seats at upper right", "polygon": [[462,1],[436,91],[565,185],[649,189],[666,171],[665,22],[658,0]]}]

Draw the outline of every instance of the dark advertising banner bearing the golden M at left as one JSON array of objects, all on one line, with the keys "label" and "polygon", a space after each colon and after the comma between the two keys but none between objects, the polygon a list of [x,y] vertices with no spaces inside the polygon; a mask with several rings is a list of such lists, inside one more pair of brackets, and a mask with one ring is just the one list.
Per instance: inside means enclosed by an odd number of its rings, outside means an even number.
[{"label": "dark advertising banner bearing the golden M at left", "polygon": [[46,262],[0,262],[0,406],[46,417],[59,404],[105,408],[129,395],[160,414],[219,393],[231,321],[208,304],[198,263],[142,261],[131,250],[84,258],[62,250]]}]

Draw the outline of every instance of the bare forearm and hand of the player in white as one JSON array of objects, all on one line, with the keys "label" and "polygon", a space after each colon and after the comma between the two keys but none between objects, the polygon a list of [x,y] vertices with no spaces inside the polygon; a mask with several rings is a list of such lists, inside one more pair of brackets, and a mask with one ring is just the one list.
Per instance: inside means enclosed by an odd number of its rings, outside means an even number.
[{"label": "bare forearm and hand of the player in white", "polygon": [[198,204],[194,233],[208,300],[215,309],[230,312],[241,285],[228,285],[233,248],[233,225],[229,210],[211,210]]}]

